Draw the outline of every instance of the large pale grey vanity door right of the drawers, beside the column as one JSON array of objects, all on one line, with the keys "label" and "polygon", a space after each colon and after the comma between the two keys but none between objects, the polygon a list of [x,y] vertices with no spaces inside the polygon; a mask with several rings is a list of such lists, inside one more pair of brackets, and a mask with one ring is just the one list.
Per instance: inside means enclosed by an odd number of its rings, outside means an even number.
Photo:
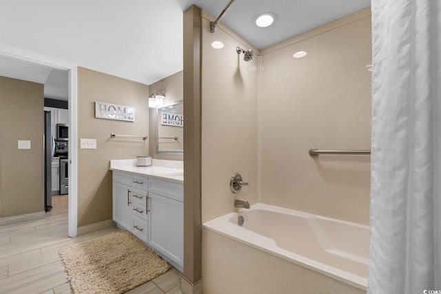
[{"label": "large pale grey vanity door right of the drawers, beside the column", "polygon": [[149,246],[183,271],[183,202],[149,193],[148,206]]}]

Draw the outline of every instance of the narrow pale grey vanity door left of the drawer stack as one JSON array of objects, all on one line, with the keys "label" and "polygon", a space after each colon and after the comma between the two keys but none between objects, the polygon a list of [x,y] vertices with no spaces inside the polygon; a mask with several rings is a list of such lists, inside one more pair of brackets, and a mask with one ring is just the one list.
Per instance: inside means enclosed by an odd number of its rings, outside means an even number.
[{"label": "narrow pale grey vanity door left of the drawer stack", "polygon": [[112,218],[123,229],[132,231],[132,190],[118,182],[113,182],[112,189]]}]

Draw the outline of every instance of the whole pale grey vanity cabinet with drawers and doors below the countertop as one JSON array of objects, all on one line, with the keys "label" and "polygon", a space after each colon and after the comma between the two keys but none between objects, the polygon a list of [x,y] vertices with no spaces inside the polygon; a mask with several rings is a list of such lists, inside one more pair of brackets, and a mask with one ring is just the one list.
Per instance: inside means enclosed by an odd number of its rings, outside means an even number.
[{"label": "whole pale grey vanity cabinet with drawers and doors below the countertop", "polygon": [[183,271],[183,184],[113,171],[113,220]]}]

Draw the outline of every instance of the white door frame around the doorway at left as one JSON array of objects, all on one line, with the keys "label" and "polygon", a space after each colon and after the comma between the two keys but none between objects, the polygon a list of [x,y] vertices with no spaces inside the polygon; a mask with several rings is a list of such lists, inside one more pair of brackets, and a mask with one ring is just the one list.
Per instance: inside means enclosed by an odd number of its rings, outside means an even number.
[{"label": "white door frame around the doorway at left", "polygon": [[21,48],[0,44],[0,56],[33,63],[54,70],[68,70],[68,103],[69,103],[69,198],[68,198],[68,235],[74,238],[78,229],[78,98],[77,98],[77,65],[68,61],[30,52]]}]

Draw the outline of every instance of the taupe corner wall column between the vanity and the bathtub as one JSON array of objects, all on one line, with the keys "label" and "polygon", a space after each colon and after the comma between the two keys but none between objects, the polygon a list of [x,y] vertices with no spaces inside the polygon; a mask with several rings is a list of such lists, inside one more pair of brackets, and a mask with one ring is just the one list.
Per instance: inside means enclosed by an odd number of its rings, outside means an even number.
[{"label": "taupe corner wall column between the vanity and the bathtub", "polygon": [[202,293],[201,28],[201,10],[189,7],[183,14],[184,294]]}]

